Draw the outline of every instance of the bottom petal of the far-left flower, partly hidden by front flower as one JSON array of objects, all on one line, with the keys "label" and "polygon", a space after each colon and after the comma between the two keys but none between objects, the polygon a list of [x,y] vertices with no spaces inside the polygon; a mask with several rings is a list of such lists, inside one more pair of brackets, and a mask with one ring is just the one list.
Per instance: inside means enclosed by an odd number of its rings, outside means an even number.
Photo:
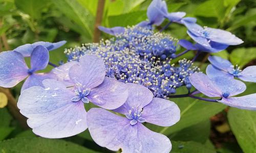
[{"label": "bottom petal of the far-left flower, partly hidden by front flower", "polygon": [[34,73],[32,75],[29,75],[28,79],[22,86],[22,91],[34,86],[44,87],[42,85],[42,81],[53,78],[55,78],[55,75],[51,73]]}]

